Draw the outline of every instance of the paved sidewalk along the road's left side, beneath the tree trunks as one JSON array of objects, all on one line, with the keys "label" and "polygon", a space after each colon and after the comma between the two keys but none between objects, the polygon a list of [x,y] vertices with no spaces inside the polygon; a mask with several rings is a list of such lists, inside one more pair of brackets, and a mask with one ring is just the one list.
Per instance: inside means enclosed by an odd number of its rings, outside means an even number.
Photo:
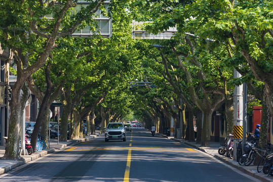
[{"label": "paved sidewalk along the road's left side, beneath the tree trunks", "polygon": [[[76,139],[76,140],[68,140],[67,142],[59,142],[58,145],[58,139],[50,139],[50,149],[45,149],[41,152],[35,152],[32,155],[26,155],[22,156],[25,160],[24,161],[16,161],[16,160],[1,160],[0,159],[0,175],[8,172],[9,170],[18,167],[20,165],[23,165],[25,163],[28,163],[32,160],[35,160],[39,157],[45,156],[50,153],[54,153],[55,151],[79,143],[79,142],[85,142],[89,141],[91,139],[94,139],[97,135],[91,135],[86,136],[86,138]],[[0,157],[3,157],[5,154],[5,147],[0,146]]]}]

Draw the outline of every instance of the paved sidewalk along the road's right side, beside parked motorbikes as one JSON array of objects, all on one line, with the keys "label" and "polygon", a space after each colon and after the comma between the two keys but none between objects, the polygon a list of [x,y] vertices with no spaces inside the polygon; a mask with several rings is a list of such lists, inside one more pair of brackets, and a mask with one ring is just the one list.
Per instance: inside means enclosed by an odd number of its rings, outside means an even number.
[{"label": "paved sidewalk along the road's right side, beside parked motorbikes", "polygon": [[220,143],[219,142],[210,142],[210,147],[200,147],[200,144],[196,144],[196,142],[188,142],[188,141],[185,141],[185,140],[182,140],[182,139],[174,139],[173,137],[171,136],[165,136],[166,138],[170,139],[170,140],[173,140],[173,141],[176,141],[176,142],[181,142],[183,144],[186,144],[188,146],[191,146],[195,149],[198,149],[198,150],[201,150],[221,161],[223,161],[224,163],[232,166],[232,167],[235,167],[237,169],[239,169],[240,171],[248,174],[248,175],[251,175],[261,181],[264,181],[264,182],[268,182],[268,181],[271,181],[273,182],[273,177],[272,176],[267,176],[267,174],[264,174],[263,172],[257,172],[257,166],[256,165],[253,165],[251,164],[250,166],[241,166],[239,165],[239,163],[235,160],[232,160],[230,159],[229,157],[225,157],[225,155],[221,156],[218,154],[218,149],[220,147]]}]

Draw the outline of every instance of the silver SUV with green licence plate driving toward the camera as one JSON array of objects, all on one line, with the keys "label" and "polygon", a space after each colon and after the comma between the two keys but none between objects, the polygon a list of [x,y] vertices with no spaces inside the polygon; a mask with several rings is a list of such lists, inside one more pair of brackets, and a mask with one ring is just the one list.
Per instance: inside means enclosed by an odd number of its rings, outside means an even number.
[{"label": "silver SUV with green licence plate driving toward the camera", "polygon": [[125,142],[126,128],[122,122],[109,122],[105,130],[105,142],[119,139]]}]

